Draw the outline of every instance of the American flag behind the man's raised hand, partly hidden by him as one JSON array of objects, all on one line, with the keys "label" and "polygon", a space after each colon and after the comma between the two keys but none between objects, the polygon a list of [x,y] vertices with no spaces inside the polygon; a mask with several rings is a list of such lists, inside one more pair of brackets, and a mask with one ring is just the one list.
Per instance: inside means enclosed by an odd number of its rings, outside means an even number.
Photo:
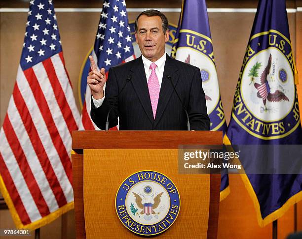
[{"label": "American flag behind the man's raised hand, partly hidden by him", "polygon": [[[131,31],[128,25],[128,15],[125,0],[104,1],[101,18],[91,53],[98,70],[109,68],[134,59]],[[91,91],[86,86],[85,102],[79,129],[99,129],[90,118]]]}]

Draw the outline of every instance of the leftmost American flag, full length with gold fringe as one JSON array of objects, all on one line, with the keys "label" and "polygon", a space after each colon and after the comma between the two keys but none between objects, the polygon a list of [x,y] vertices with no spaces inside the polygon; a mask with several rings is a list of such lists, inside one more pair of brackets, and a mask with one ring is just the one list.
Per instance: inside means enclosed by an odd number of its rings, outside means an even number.
[{"label": "leftmost American flag, full length with gold fringe", "polygon": [[52,0],[31,0],[0,130],[0,188],[17,228],[36,229],[73,208],[71,131],[78,120]]}]

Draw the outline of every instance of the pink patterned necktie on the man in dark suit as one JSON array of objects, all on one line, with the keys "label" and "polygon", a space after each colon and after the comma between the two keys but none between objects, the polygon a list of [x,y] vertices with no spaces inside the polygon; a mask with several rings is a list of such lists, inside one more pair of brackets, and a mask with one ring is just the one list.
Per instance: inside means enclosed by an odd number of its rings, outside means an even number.
[{"label": "pink patterned necktie on the man in dark suit", "polygon": [[159,97],[159,82],[158,82],[157,75],[155,73],[155,67],[156,67],[156,64],[151,63],[151,65],[150,65],[151,75],[148,80],[148,89],[149,89],[154,119],[155,119],[155,115],[156,115],[156,109],[157,109],[157,103],[158,103],[158,97]]}]

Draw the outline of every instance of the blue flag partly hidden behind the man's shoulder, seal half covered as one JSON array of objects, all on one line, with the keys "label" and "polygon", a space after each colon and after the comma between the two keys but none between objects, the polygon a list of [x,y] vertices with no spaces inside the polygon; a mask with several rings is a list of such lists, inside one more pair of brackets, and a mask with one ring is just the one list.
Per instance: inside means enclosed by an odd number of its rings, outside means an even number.
[{"label": "blue flag partly hidden behind the man's shoulder, seal half covered", "polygon": [[[205,0],[183,0],[171,57],[200,69],[205,92],[210,130],[227,129],[223,110],[215,58],[211,39],[209,17]],[[222,172],[220,201],[229,194],[227,171]]]}]

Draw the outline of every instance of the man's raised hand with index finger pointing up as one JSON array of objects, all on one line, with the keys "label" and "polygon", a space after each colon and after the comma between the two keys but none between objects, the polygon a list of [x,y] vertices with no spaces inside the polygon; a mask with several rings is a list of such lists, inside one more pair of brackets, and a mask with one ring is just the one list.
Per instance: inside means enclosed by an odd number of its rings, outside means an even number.
[{"label": "man's raised hand with index finger pointing up", "polygon": [[92,56],[89,56],[89,60],[92,70],[87,76],[87,84],[90,87],[93,98],[102,99],[104,97],[103,87],[106,82],[105,69],[102,68],[101,72],[99,72]]}]

